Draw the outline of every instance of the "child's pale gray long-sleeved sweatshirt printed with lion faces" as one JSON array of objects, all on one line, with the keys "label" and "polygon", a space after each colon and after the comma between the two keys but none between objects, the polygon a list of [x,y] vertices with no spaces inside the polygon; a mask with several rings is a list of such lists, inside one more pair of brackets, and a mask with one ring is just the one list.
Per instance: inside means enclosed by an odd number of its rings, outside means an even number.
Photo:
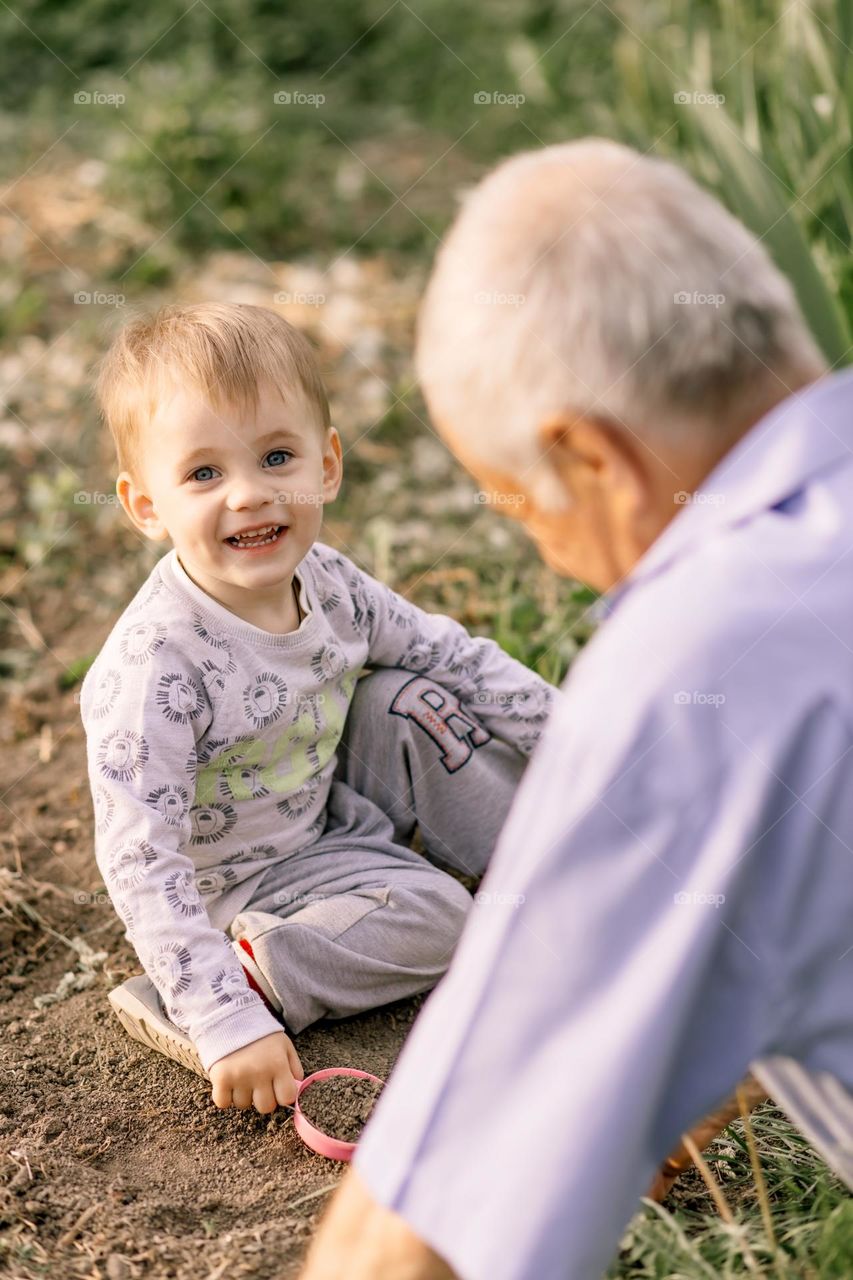
[{"label": "child's pale gray long-sleeved sweatshirt printed with lion faces", "polygon": [[324,829],[365,666],[428,675],[529,755],[557,690],[315,543],[305,617],[275,635],[154,567],[83,680],[95,858],[142,968],[205,1069],[280,1030],[223,932],[264,873]]}]

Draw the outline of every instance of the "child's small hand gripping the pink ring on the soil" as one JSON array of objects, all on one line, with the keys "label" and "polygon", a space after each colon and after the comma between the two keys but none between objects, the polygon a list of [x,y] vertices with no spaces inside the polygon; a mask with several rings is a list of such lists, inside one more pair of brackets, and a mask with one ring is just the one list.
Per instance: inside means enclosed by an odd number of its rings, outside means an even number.
[{"label": "child's small hand gripping the pink ring on the soil", "polygon": [[218,1107],[246,1107],[266,1115],[296,1101],[302,1064],[284,1032],[273,1032],[225,1053],[210,1068],[213,1100]]}]

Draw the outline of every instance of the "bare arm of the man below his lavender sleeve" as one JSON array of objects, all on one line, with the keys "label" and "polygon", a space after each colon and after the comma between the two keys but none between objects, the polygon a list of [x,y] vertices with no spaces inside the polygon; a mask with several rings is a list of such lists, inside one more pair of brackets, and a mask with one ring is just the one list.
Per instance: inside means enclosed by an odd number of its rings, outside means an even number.
[{"label": "bare arm of the man below his lavender sleeve", "polygon": [[334,1193],[300,1280],[456,1280],[456,1272],[351,1169]]}]

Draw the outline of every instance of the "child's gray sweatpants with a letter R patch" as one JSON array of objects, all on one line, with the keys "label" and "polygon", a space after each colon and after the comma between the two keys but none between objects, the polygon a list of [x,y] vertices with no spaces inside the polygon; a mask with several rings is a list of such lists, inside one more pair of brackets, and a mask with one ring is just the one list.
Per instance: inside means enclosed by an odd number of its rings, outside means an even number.
[{"label": "child's gray sweatpants with a letter R patch", "polygon": [[[471,737],[478,722],[424,676],[359,680],[323,835],[270,867],[228,929],[288,1030],[428,991],[447,969],[473,899],[428,858],[482,876],[526,765]],[[428,858],[409,847],[415,823]]]}]

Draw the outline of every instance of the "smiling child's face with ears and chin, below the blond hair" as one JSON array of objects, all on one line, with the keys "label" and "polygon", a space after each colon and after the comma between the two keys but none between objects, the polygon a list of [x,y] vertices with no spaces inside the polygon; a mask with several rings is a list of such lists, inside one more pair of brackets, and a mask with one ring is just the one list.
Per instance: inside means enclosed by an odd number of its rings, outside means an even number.
[{"label": "smiling child's face with ears and chin, below the blond hair", "polygon": [[170,538],[190,577],[225,608],[288,628],[293,571],[341,483],[334,428],[324,430],[297,389],[284,398],[263,384],[252,411],[175,388],[146,424],[143,444],[143,477],[126,485],[138,527]]}]

